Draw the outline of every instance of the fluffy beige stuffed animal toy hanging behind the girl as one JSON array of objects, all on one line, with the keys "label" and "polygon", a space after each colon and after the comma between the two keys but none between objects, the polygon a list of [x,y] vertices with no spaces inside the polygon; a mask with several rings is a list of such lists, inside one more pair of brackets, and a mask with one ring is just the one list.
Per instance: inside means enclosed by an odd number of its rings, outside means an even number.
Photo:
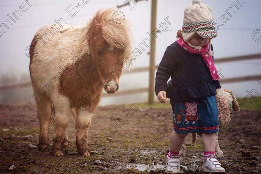
[{"label": "fluffy beige stuffed animal toy hanging behind the girl", "polygon": [[[216,101],[218,106],[218,126],[219,128],[227,127],[230,125],[230,114],[240,111],[236,97],[229,89],[217,89]],[[202,137],[202,133],[197,134]],[[192,133],[192,144],[195,143],[197,134]],[[218,132],[216,133],[215,153],[217,158],[222,158],[224,156],[218,144]]]}]

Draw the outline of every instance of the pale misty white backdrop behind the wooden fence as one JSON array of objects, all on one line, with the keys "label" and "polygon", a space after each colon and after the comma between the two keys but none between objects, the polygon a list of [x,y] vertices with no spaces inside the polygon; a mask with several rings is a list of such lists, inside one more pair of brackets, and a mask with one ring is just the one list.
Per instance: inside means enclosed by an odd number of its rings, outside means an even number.
[{"label": "pale misty white backdrop behind the wooden fence", "polygon": [[[18,10],[22,0],[2,0],[0,1],[0,23],[9,19],[14,10]],[[0,74],[12,70],[18,77],[21,74],[29,75],[29,58],[25,55],[25,48],[30,45],[35,32],[43,25],[54,23],[53,19],[63,18],[68,24],[80,25],[89,21],[89,18],[95,14],[100,8],[116,7],[123,4],[125,0],[90,0],[80,11],[73,17],[69,16],[64,10],[68,5],[76,4],[76,0],[28,0],[31,7],[28,7],[26,12],[19,16],[19,19],[0,37],[0,52],[1,68]],[[81,0],[79,4],[81,5]],[[208,4],[212,10],[214,19],[218,19],[231,4],[236,3],[235,0],[202,0]],[[236,13],[231,12],[232,17],[226,23],[222,23],[218,19],[220,26],[218,37],[212,40],[215,51],[215,59],[221,57],[231,57],[260,53],[260,42],[254,42],[252,32],[261,30],[261,1],[260,0],[245,0],[245,4],[241,2],[242,7],[235,9]],[[158,64],[163,56],[166,47],[175,42],[176,31],[181,29],[183,20],[183,10],[191,3],[191,0],[158,0],[157,6],[157,26],[164,21],[166,16],[171,25],[162,34],[158,34],[156,41],[156,64]],[[132,5],[133,6],[133,5]],[[133,6],[135,7],[135,6]],[[74,7],[74,11],[77,7]],[[134,36],[133,48],[137,48],[144,38],[148,37],[147,32],[150,31],[150,1],[137,2],[137,7],[133,11],[129,7],[120,9],[125,14],[132,25],[132,33]],[[228,15],[227,15],[228,16]],[[216,22],[216,21],[215,21]],[[260,34],[257,36],[260,37]],[[146,48],[144,53],[137,58],[136,67],[149,65],[149,48]],[[222,68],[224,78],[257,75],[260,74],[260,59],[250,61],[227,62],[216,64],[217,69]],[[120,80],[120,89],[133,89],[148,86],[148,72],[139,74],[130,74],[122,76]],[[260,84],[256,81],[247,81],[242,83],[224,84],[222,88],[229,88],[236,93],[236,96],[244,97],[247,95],[246,90],[255,89],[261,93]],[[2,92],[0,95],[4,95]],[[31,93],[28,97],[23,97],[24,100],[30,100]],[[147,94],[134,94],[129,96],[117,96],[103,98],[102,105],[118,104],[118,103],[133,103],[143,102],[147,100]],[[0,97],[1,98],[1,97]],[[6,98],[6,97],[2,97]],[[16,96],[12,96],[16,100]],[[3,102],[3,101],[2,101]]]}]

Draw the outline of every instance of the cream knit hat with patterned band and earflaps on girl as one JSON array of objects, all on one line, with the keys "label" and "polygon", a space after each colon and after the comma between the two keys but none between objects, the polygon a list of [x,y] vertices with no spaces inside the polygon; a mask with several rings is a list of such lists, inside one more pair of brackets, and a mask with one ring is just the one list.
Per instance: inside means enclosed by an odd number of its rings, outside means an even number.
[{"label": "cream knit hat with patterned band and earflaps on girl", "polygon": [[200,0],[193,0],[192,4],[185,8],[182,26],[182,37],[185,42],[196,33],[210,39],[218,36],[214,26],[213,12]]}]

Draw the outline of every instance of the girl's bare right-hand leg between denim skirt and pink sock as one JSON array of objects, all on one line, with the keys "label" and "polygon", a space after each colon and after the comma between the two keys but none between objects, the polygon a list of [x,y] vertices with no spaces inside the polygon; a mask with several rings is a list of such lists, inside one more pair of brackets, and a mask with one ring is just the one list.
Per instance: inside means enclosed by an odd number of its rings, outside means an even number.
[{"label": "girl's bare right-hand leg between denim skirt and pink sock", "polygon": [[204,146],[204,152],[215,152],[216,133],[203,133],[202,143]]}]

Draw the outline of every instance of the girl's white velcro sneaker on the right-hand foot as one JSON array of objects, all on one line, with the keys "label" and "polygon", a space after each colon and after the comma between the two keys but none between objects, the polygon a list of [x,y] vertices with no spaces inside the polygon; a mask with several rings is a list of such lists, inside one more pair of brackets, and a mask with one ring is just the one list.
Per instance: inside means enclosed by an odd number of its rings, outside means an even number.
[{"label": "girl's white velcro sneaker on the right-hand foot", "polygon": [[218,162],[216,155],[203,161],[202,171],[208,173],[226,173],[225,169]]}]

